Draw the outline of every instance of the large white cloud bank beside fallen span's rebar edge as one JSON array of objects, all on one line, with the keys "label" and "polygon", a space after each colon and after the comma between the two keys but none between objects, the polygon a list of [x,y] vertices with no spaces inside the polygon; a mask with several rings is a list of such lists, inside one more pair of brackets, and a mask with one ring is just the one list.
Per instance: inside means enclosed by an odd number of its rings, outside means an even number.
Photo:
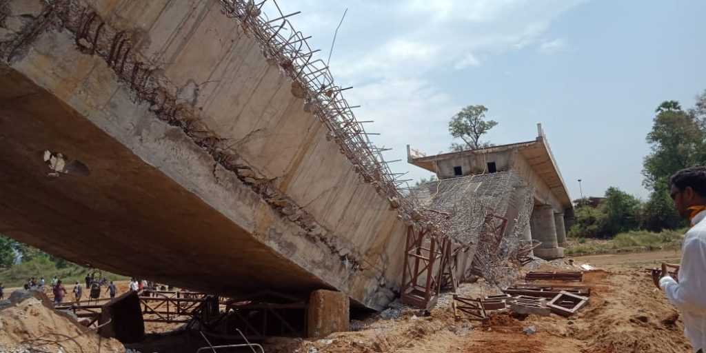
[{"label": "large white cloud bank beside fallen span's rebar edge", "polygon": [[[462,104],[452,98],[459,87],[436,83],[440,73],[478,67],[505,52],[530,47],[542,53],[563,49],[563,39],[546,40],[547,28],[582,1],[303,0],[280,1],[280,6],[285,13],[302,12],[291,21],[297,30],[313,35],[309,42],[323,49],[318,56],[323,59],[348,7],[331,71],[340,85],[354,86],[345,97],[361,104],[357,116],[376,120],[366,126],[369,132],[383,134],[373,142],[395,148],[387,152],[388,159],[406,160],[407,143],[432,153],[448,148],[448,119]],[[392,167],[418,169],[404,162]]]}]

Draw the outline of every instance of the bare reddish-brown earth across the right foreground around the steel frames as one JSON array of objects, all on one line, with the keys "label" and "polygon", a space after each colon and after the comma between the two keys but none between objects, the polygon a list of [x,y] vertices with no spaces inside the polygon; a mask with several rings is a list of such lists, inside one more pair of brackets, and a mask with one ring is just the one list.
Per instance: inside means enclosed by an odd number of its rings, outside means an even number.
[{"label": "bare reddish-brown earth across the right foreground around the steel frames", "polygon": [[[570,318],[552,314],[526,318],[491,311],[489,323],[457,322],[450,306],[438,306],[431,316],[406,311],[400,318],[370,318],[365,328],[334,333],[323,340],[273,340],[266,352],[690,352],[678,311],[652,285],[643,271],[661,261],[678,261],[678,253],[663,251],[576,258],[601,269],[585,273],[592,286],[590,301]],[[637,256],[637,257],[636,257]],[[551,270],[542,265],[541,270]],[[491,292],[481,284],[463,285],[467,295]],[[483,293],[486,292],[486,293]],[[529,326],[536,333],[525,335]]]}]

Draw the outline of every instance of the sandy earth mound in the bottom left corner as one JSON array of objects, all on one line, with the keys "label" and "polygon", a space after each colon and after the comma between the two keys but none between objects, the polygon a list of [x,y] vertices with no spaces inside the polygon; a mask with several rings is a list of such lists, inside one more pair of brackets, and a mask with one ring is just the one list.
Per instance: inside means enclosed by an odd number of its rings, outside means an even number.
[{"label": "sandy earth mound in the bottom left corner", "polygon": [[125,352],[125,347],[101,338],[68,313],[54,311],[41,292],[17,291],[0,302],[0,352],[99,351]]}]

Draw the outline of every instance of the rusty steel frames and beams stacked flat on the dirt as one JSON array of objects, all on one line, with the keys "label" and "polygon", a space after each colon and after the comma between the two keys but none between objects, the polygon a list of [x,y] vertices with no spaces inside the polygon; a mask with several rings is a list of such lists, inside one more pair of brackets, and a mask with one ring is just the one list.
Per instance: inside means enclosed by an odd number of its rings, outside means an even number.
[{"label": "rusty steel frames and beams stacked flat on the dirt", "polygon": [[588,303],[591,287],[564,284],[581,282],[582,272],[529,272],[524,283],[516,283],[503,290],[504,294],[483,299],[453,296],[456,320],[489,321],[487,311],[510,311],[519,315],[572,316]]}]

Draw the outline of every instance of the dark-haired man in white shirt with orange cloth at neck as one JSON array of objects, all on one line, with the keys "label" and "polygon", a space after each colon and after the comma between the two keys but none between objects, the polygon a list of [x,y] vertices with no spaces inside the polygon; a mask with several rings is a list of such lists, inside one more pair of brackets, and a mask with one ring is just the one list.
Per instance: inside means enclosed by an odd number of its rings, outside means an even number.
[{"label": "dark-haired man in white shirt with orange cloth at neck", "polygon": [[[671,177],[671,198],[690,220],[681,247],[678,282],[663,271],[656,283],[684,318],[694,352],[706,352],[706,167],[682,169]],[[663,266],[664,268],[664,266]],[[657,278],[655,278],[657,282]]]}]

